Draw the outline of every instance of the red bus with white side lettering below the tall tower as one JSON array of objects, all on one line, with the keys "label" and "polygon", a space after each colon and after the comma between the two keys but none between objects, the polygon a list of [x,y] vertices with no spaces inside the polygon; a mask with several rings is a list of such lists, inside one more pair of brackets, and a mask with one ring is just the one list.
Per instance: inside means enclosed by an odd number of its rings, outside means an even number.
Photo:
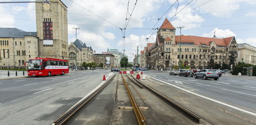
[{"label": "red bus with white side lettering below the tall tower", "polygon": [[69,73],[69,62],[64,59],[36,58],[29,59],[27,74],[29,76],[51,76]]}]

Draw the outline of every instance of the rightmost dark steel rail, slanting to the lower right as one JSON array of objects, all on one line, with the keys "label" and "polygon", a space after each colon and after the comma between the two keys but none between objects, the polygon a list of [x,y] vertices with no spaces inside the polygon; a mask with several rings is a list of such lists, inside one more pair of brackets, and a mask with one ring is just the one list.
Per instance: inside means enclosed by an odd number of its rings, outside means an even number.
[{"label": "rightmost dark steel rail, slanting to the lower right", "polygon": [[196,123],[201,123],[201,119],[202,118],[200,116],[198,116],[197,114],[193,113],[192,111],[187,110],[187,108],[184,108],[184,106],[179,105],[179,103],[176,103],[175,101],[171,100],[170,98],[166,97],[165,95],[159,93],[157,90],[154,90],[154,88],[149,87],[148,85],[144,84],[140,80],[135,79],[135,77],[133,77],[133,75],[131,75],[131,77],[136,82],[138,82],[140,85],[143,85],[144,87],[148,88],[148,90],[150,90],[154,94],[156,94],[159,97],[161,97],[164,101],[166,101],[169,104],[171,104],[171,105],[175,106],[176,108],[178,108],[179,111],[181,111],[183,114],[186,114],[186,116],[191,118],[193,121],[196,121]]}]

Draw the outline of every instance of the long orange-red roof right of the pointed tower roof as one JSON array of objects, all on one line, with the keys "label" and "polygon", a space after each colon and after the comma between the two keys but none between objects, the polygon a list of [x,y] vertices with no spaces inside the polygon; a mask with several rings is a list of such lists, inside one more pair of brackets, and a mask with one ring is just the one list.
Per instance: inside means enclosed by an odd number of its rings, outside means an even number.
[{"label": "long orange-red roof right of the pointed tower roof", "polygon": [[[208,37],[197,37],[190,35],[181,35],[181,43],[194,43],[194,45],[207,45],[209,46],[212,41],[216,43],[218,46],[229,46],[230,41],[233,37],[227,38],[208,38]],[[176,44],[180,43],[179,35],[175,36]]]}]

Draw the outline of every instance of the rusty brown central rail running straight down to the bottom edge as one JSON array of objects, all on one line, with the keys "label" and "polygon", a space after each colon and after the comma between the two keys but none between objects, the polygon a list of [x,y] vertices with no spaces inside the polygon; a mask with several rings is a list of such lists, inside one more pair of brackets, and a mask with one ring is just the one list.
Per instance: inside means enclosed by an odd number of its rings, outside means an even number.
[{"label": "rusty brown central rail running straight down to the bottom edge", "polygon": [[133,111],[135,112],[135,116],[136,116],[136,119],[138,121],[138,124],[139,125],[142,125],[142,124],[145,125],[146,124],[146,119],[145,119],[142,111],[140,110],[140,107],[139,107],[137,101],[133,97],[133,93],[131,93],[130,88],[128,87],[128,84],[126,83],[124,78],[123,78],[123,84],[125,84],[125,88],[126,88],[126,91],[128,93],[128,97],[130,98],[131,105],[133,106]]}]

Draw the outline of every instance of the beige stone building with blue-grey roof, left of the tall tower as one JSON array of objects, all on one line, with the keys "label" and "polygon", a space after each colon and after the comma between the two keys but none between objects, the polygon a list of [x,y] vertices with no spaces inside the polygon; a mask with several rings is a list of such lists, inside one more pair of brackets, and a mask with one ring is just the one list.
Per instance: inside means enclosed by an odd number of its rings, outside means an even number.
[{"label": "beige stone building with blue-grey roof, left of the tall tower", "polygon": [[36,32],[0,28],[0,68],[24,68],[24,63],[38,56]]}]

